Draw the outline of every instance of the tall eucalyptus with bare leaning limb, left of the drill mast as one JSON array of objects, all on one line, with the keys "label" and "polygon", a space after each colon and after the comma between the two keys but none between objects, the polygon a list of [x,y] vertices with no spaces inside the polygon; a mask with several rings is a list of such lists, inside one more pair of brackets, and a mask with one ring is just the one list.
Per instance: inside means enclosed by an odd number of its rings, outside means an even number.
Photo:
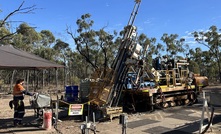
[{"label": "tall eucalyptus with bare leaning limb, left of the drill mast", "polygon": [[[95,42],[95,31],[91,29],[93,26],[94,21],[90,20],[91,15],[90,14],[84,14],[81,16],[80,19],[77,20],[76,24],[78,26],[77,33],[79,34],[77,37],[75,37],[71,31],[71,29],[67,29],[67,33],[71,35],[72,39],[75,42],[76,50],[80,53],[81,56],[84,57],[86,60],[85,64],[85,72],[88,75],[89,66],[92,66],[92,69],[98,69],[95,57],[96,57],[96,51],[95,47],[97,46],[97,43]],[[92,48],[95,46],[94,48]]]}]

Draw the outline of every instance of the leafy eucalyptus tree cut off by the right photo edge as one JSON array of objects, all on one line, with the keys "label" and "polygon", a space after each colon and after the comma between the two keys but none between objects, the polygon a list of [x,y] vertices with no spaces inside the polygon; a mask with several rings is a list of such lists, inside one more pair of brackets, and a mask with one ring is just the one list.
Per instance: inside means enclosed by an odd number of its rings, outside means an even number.
[{"label": "leafy eucalyptus tree cut off by the right photo edge", "polygon": [[221,59],[220,59],[220,49],[221,49],[221,29],[216,26],[211,26],[207,31],[193,32],[195,40],[208,48],[211,61],[217,62],[219,80],[221,82]]}]

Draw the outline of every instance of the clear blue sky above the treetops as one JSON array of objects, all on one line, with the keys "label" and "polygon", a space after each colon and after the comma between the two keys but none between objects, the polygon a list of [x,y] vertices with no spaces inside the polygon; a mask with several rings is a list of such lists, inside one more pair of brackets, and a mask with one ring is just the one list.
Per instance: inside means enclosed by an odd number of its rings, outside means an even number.
[{"label": "clear blue sky above the treetops", "polygon": [[[18,8],[23,0],[0,0],[0,18]],[[24,7],[36,5],[34,14],[17,14],[12,21],[25,21],[37,31],[50,30],[56,36],[73,46],[66,27],[76,30],[76,20],[82,14],[90,13],[94,29],[104,26],[109,32],[121,31],[128,23],[134,0],[26,0]],[[215,25],[221,28],[221,0],[142,0],[134,25],[138,34],[145,33],[160,42],[163,33],[185,37],[191,47],[189,33],[208,30]],[[19,23],[13,23],[17,27]]]}]

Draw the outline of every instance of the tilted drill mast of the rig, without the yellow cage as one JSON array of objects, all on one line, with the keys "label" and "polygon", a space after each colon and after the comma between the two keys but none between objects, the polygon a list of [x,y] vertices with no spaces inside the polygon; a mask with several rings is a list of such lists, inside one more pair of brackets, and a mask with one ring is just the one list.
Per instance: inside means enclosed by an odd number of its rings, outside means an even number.
[{"label": "tilted drill mast of the rig, without the yellow cage", "polygon": [[141,0],[136,0],[133,11],[127,26],[125,27],[125,34],[119,47],[118,54],[112,64],[113,70],[113,86],[110,90],[107,104],[109,106],[117,106],[121,92],[124,88],[125,79],[128,74],[130,66],[127,64],[129,60],[133,60],[136,63],[140,55],[141,46],[136,42],[136,27],[133,26],[136,18]]}]

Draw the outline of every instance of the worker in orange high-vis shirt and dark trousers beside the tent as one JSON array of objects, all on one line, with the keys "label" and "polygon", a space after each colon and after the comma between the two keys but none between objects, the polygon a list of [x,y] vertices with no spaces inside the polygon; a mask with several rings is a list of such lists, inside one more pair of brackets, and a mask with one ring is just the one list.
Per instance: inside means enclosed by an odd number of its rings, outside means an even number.
[{"label": "worker in orange high-vis shirt and dark trousers beside the tent", "polygon": [[21,126],[22,119],[25,115],[24,95],[33,96],[34,93],[28,92],[24,87],[24,79],[16,81],[13,90],[13,104],[14,104],[14,126]]}]

